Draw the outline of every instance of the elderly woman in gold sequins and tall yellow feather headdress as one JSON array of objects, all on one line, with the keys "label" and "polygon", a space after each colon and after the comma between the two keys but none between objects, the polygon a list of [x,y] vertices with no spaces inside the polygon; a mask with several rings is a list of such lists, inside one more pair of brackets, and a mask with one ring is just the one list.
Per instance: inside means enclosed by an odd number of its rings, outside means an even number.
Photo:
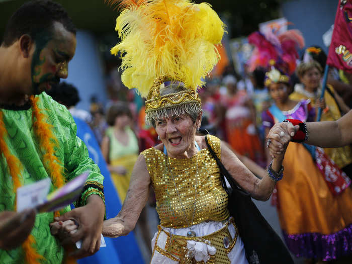
[{"label": "elderly woman in gold sequins and tall yellow feather headdress", "polygon": [[[122,80],[146,97],[146,122],[161,144],[141,152],[119,214],[104,222],[103,235],[118,237],[135,227],[149,186],[161,223],[152,239],[151,263],[248,263],[241,237],[227,209],[220,168],[204,136],[201,100],[196,92],[217,63],[215,44],[224,26],[208,4],[189,1],[123,1],[116,29],[122,39]],[[261,180],[214,136],[210,146],[238,185],[268,200],[282,177],[283,154]],[[280,171],[280,173],[279,173]],[[275,175],[275,176],[274,176]]]}]

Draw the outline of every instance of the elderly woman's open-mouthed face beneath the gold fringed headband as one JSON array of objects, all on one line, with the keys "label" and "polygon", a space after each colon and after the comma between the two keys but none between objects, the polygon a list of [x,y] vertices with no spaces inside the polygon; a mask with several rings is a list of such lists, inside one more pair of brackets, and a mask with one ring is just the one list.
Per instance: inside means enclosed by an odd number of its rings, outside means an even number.
[{"label": "elderly woman's open-mouthed face beneath the gold fringed headband", "polygon": [[170,157],[183,157],[194,144],[197,128],[201,125],[200,114],[194,122],[189,115],[177,115],[155,120],[155,130]]}]

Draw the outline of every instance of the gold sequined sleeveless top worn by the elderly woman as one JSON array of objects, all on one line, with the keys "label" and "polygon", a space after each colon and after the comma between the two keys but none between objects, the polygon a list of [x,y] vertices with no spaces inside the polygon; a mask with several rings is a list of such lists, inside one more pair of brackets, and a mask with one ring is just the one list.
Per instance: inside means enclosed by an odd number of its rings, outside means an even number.
[{"label": "gold sequined sleeveless top worn by the elderly woman", "polygon": [[[214,136],[208,139],[220,158],[220,139]],[[162,226],[183,228],[229,217],[228,195],[221,185],[220,168],[207,148],[184,159],[166,157],[156,148],[148,148],[142,154]]]}]

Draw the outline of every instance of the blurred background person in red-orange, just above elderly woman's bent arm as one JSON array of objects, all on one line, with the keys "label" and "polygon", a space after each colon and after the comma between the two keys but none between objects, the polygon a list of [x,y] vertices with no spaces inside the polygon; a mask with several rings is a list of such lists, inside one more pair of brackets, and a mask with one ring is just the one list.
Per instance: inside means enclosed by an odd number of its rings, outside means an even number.
[{"label": "blurred background person in red-orange, just above elderly woman's bent arm", "polygon": [[227,96],[223,99],[227,142],[239,154],[265,166],[263,148],[255,127],[254,105],[245,90],[237,90],[235,77],[227,75],[223,81],[227,87]]}]

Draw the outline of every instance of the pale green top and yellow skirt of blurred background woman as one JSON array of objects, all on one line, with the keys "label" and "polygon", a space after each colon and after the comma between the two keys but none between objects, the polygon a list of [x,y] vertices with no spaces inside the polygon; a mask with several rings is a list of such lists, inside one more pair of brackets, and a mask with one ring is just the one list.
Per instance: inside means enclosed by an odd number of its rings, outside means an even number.
[{"label": "pale green top and yellow skirt of blurred background woman", "polygon": [[121,144],[121,142],[116,139],[114,135],[114,128],[108,128],[106,132],[109,137],[110,165],[123,166],[127,170],[125,175],[111,172],[111,178],[121,203],[123,203],[126,198],[132,169],[139,153],[138,141],[135,134],[129,127],[126,128],[126,132],[129,138],[127,145]]}]

